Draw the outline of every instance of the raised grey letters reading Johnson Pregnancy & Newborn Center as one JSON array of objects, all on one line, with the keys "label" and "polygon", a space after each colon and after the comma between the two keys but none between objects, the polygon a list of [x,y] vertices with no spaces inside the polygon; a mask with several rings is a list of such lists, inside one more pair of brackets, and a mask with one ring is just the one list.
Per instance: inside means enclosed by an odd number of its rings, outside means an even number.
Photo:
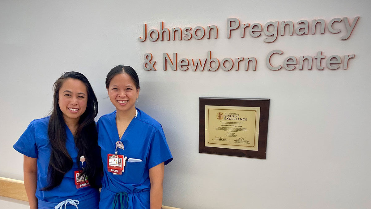
[{"label": "raised grey letters reading Johnson Pregnancy & Newborn Center", "polygon": [[[355,25],[357,24],[359,16],[354,17],[351,21],[348,17],[335,17],[329,20],[327,23],[324,19],[313,19],[308,20],[299,20],[295,25],[293,21],[275,21],[267,22],[264,27],[261,23],[241,23],[237,18],[228,18],[226,26],[226,38],[232,38],[234,36],[239,36],[240,38],[245,38],[246,34],[249,34],[253,38],[257,38],[265,34],[266,37],[263,39],[266,43],[272,43],[276,41],[278,35],[284,36],[285,34],[293,35],[294,32],[296,35],[314,35],[314,34],[324,34],[325,31],[328,31],[332,34],[337,34],[341,32],[341,29],[338,28],[338,24],[344,24],[345,30],[341,36],[341,40],[347,40],[352,34]],[[309,24],[311,23],[311,25]],[[155,41],[181,41],[181,40],[191,40],[191,39],[217,39],[218,36],[218,27],[216,25],[208,25],[206,29],[203,26],[196,26],[194,28],[186,26],[184,28],[175,27],[165,28],[164,22],[160,22],[160,28],[152,28],[147,30],[147,24],[143,24],[143,34],[141,37],[138,37],[140,42],[146,40],[155,42]],[[345,33],[345,34],[344,34]],[[211,51],[205,52],[206,56],[202,58],[178,58],[178,53],[175,52],[173,55],[168,53],[162,54],[162,70],[167,71],[171,68],[172,71],[217,71],[219,69],[223,71],[256,71],[257,58],[255,57],[225,57],[225,58],[215,58],[212,57]],[[274,49],[270,52],[267,52],[265,58],[265,65],[269,70],[277,71],[280,69],[286,69],[289,71],[303,70],[303,68],[312,70],[313,62],[315,62],[315,68],[317,70],[337,70],[343,69],[347,70],[349,65],[349,60],[355,57],[355,54],[346,54],[346,55],[330,55],[326,58],[323,55],[322,51],[311,52],[311,55],[282,57],[282,65],[272,65],[271,58],[273,56],[282,55],[283,51],[279,49]],[[308,53],[309,54],[309,53]],[[313,56],[312,56],[313,55]],[[299,60],[299,61],[298,61]],[[324,60],[324,63],[321,63],[321,60]],[[307,65],[304,65],[304,62],[307,62]],[[146,71],[156,71],[155,67],[156,61],[154,61],[154,56],[151,53],[144,54],[143,69]]]}]

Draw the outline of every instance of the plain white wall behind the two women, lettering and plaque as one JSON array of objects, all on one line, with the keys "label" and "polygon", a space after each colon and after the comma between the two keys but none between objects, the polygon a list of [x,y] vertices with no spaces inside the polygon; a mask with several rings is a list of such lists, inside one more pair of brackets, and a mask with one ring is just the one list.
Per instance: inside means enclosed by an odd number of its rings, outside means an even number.
[{"label": "plain white wall behind the two women, lettering and plaque", "polygon": [[[230,3],[229,3],[230,2]],[[0,176],[22,179],[12,145],[51,107],[52,84],[76,70],[91,81],[99,116],[114,110],[106,73],[131,65],[141,81],[138,107],[162,123],[174,156],[165,168],[164,205],[219,208],[369,208],[370,1],[1,1]],[[226,38],[226,20],[242,23],[355,16],[351,37],[339,34]],[[217,25],[218,39],[139,42],[148,29]],[[295,24],[296,25],[296,24]],[[339,28],[345,29],[338,24]],[[273,49],[293,55],[355,54],[348,70],[271,71]],[[162,71],[162,53],[178,58],[255,57],[256,71]],[[142,69],[143,55],[157,71]],[[324,61],[322,61],[324,65]],[[267,159],[198,153],[198,97],[270,98]],[[21,162],[21,163],[14,163]],[[0,207],[3,203],[0,202]],[[16,208],[12,206],[12,208]]]}]

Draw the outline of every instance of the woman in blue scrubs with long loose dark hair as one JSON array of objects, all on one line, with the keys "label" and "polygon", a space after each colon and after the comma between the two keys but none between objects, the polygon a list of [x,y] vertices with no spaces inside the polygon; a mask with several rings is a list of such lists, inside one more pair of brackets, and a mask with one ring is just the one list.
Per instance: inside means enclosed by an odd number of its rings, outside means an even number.
[{"label": "woman in blue scrubs with long loose dark hair", "polygon": [[102,173],[98,101],[78,72],[63,73],[53,87],[51,115],[33,120],[13,146],[24,155],[30,208],[96,209]]}]

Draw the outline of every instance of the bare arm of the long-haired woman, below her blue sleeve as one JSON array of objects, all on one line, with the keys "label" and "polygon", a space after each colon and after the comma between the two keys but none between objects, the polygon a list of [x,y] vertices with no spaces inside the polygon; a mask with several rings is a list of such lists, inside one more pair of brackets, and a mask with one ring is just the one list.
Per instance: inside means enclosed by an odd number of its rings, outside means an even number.
[{"label": "bare arm of the long-haired woman, below her blue sleeve", "polygon": [[37,209],[36,183],[37,183],[37,158],[27,157],[23,155],[23,180],[24,188],[30,209]]}]

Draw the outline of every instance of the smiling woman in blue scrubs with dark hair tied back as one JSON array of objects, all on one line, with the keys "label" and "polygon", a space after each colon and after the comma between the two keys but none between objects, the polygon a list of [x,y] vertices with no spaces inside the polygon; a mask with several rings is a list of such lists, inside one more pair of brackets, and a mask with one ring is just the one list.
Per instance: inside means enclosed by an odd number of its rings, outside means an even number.
[{"label": "smiling woman in blue scrubs with dark hair tied back", "polygon": [[98,120],[103,161],[100,209],[161,209],[164,165],[173,160],[162,126],[135,108],[137,73],[118,65],[106,77],[116,107]]}]

